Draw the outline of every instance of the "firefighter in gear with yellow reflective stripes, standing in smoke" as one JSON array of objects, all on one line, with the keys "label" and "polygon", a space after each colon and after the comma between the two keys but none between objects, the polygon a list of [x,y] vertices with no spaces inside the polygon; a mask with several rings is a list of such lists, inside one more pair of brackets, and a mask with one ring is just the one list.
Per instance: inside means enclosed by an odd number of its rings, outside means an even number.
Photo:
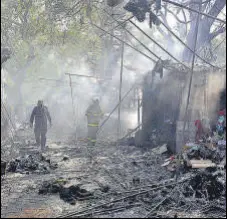
[{"label": "firefighter in gear with yellow reflective stripes, standing in smoke", "polygon": [[86,111],[86,116],[88,123],[87,139],[90,145],[94,146],[96,143],[96,134],[99,129],[99,122],[103,116],[98,99],[93,99],[92,104]]}]

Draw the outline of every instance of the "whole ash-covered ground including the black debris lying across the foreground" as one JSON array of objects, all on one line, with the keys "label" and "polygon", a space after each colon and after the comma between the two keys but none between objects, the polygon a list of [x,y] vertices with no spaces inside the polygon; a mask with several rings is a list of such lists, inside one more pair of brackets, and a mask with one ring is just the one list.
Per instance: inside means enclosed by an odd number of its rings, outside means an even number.
[{"label": "whole ash-covered ground including the black debris lying across the foreground", "polygon": [[38,165],[20,166],[14,172],[7,165],[1,186],[2,218],[226,216],[223,169],[184,171],[176,179],[161,166],[168,153],[99,141],[91,164],[82,140],[50,138],[42,155],[32,143],[32,134],[18,136],[18,155],[11,160],[32,157],[30,163]]}]

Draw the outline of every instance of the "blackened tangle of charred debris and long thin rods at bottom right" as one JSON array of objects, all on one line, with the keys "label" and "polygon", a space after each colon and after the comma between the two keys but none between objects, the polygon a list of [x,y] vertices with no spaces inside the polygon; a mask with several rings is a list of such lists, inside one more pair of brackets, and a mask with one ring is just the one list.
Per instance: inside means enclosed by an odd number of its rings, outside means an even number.
[{"label": "blackened tangle of charred debris and long thin rods at bottom right", "polygon": [[100,197],[102,201],[99,205],[94,204],[60,217],[107,218],[111,213],[112,217],[117,218],[118,212],[122,215],[122,212],[132,208],[135,215],[138,207],[140,218],[224,217],[224,185],[212,174],[190,174],[178,182],[168,180],[152,185],[140,185],[118,193],[108,193]]}]

